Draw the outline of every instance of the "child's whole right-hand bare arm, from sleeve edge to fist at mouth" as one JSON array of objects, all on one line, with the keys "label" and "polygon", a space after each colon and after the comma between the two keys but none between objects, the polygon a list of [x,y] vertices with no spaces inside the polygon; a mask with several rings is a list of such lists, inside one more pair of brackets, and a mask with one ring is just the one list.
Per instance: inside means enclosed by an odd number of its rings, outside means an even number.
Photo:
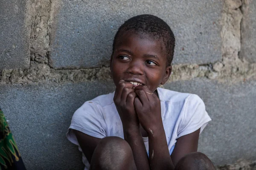
[{"label": "child's whole right-hand bare arm, from sleeve edge to fist at mouth", "polygon": [[[197,151],[200,129],[177,139],[172,156],[169,154],[161,117],[160,100],[146,86],[136,87],[134,105],[143,128],[148,133],[149,157],[152,170],[174,170],[177,162],[188,153]],[[146,93],[148,92],[148,93]]]}]

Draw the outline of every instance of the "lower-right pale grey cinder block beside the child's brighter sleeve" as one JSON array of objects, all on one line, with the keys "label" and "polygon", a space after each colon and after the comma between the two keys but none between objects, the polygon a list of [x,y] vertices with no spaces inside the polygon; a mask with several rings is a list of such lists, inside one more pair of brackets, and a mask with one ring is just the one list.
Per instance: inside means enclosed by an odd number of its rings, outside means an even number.
[{"label": "lower-right pale grey cinder block beside the child's brighter sleeve", "polygon": [[171,82],[174,91],[198,94],[212,122],[199,140],[199,151],[215,165],[234,163],[238,159],[256,160],[256,81],[221,84],[209,79]]}]

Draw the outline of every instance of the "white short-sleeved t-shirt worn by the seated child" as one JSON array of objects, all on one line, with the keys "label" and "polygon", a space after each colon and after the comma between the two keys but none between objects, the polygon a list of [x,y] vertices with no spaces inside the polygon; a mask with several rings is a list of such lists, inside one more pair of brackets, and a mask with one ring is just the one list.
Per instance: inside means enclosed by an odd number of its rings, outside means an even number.
[{"label": "white short-sleeved t-shirt worn by the seated child", "polygon": [[[195,94],[180,93],[163,88],[157,88],[157,92],[171,155],[180,136],[195,132],[200,127],[201,133],[211,118],[205,110],[204,102]],[[113,102],[113,96],[114,92],[85,102],[72,117],[67,139],[79,145],[73,129],[96,138],[118,136],[124,139],[122,122]],[[143,140],[148,152],[148,138],[143,138]],[[79,150],[82,152],[80,146]],[[82,160],[85,164],[84,170],[89,170],[90,164],[84,154]]]}]

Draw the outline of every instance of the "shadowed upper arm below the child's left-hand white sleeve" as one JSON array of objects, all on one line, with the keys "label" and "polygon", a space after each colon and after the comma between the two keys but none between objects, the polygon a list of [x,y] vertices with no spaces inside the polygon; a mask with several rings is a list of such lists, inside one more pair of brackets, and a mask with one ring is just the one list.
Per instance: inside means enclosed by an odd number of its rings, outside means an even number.
[{"label": "shadowed upper arm below the child's left-hand white sleeve", "polygon": [[74,130],[74,133],[76,135],[77,141],[84,153],[84,156],[87,158],[89,163],[91,162],[93,152],[99,143],[100,139],[95,138],[93,136],[89,136],[85,133],[82,133],[78,130]]}]

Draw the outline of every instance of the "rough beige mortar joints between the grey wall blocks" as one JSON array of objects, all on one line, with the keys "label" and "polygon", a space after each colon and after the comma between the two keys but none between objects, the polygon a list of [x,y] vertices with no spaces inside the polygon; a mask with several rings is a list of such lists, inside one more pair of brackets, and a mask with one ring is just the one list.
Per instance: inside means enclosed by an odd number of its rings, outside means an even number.
[{"label": "rough beige mortar joints between the grey wall blocks", "polygon": [[[243,0],[244,1],[244,0]],[[31,62],[28,70],[3,70],[1,84],[30,84],[37,82],[86,82],[111,80],[110,68],[60,69],[52,68],[50,46],[54,39],[53,17],[58,13],[58,2],[35,0],[29,2],[31,22]],[[221,18],[222,61],[215,63],[173,65],[169,82],[196,77],[220,82],[239,82],[256,79],[256,63],[239,58],[241,50],[242,0],[224,0]],[[30,16],[31,17],[31,16]]]}]

